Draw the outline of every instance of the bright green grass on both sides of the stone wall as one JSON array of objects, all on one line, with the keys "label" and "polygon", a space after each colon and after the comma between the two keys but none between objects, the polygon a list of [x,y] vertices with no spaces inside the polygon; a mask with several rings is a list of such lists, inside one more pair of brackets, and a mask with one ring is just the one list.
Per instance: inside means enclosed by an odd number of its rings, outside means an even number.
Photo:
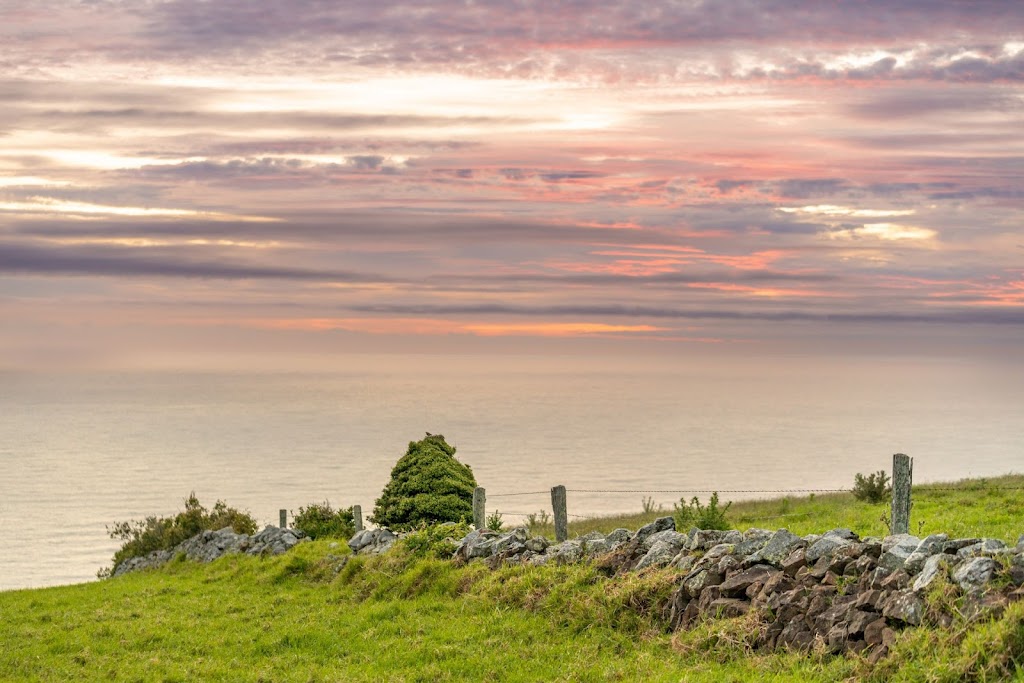
[{"label": "bright green grass on both sides of the stone wall", "polygon": [[[914,513],[926,532],[1016,541],[1024,490],[992,486],[1018,482],[916,487]],[[798,533],[884,532],[879,506],[850,496],[737,503],[729,517],[743,527],[782,505]],[[642,521],[591,520],[572,531]],[[589,565],[490,571],[397,551],[337,571],[340,552],[316,541],[276,558],[176,561],[0,593],[0,681],[1024,680],[1024,603],[995,621],[907,630],[888,659],[869,667],[821,651],[754,651],[756,615],[669,633],[665,605],[679,579],[672,570],[615,580]],[[939,587],[930,599],[950,595]]]}]

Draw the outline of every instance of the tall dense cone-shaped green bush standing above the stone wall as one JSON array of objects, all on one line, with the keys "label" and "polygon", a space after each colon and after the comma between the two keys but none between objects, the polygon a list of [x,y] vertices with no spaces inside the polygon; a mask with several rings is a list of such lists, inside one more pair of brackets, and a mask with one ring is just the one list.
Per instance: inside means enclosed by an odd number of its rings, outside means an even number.
[{"label": "tall dense cone-shaped green bush standing above the stone wall", "polygon": [[436,522],[473,520],[473,470],[455,459],[440,434],[411,441],[391,470],[371,521],[394,530]]}]

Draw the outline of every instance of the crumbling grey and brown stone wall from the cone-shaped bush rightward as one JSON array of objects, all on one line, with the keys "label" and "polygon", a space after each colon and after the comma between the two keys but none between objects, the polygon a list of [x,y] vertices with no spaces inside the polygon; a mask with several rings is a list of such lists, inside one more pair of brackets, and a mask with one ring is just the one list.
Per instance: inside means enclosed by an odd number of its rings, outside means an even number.
[{"label": "crumbling grey and brown stone wall from the cone-shaped bush rightward", "polygon": [[[379,541],[378,541],[379,540]],[[378,553],[395,537],[364,532],[355,552]],[[474,530],[454,561],[503,565],[593,562],[607,575],[655,567],[678,573],[666,617],[674,629],[756,611],[764,628],[757,646],[855,651],[878,659],[898,631],[944,627],[952,615],[929,608],[925,595],[943,578],[958,593],[968,618],[998,614],[1024,598],[1024,536],[1016,547],[992,539],[921,539],[910,535],[860,539],[850,529],[799,537],[786,529],[676,530],[663,517],[636,532],[615,529],[552,544],[519,527]]]}]

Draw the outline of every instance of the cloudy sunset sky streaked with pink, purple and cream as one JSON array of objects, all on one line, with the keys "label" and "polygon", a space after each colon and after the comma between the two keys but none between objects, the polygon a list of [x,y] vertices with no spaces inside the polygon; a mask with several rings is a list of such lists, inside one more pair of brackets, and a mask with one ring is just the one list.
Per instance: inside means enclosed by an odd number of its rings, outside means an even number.
[{"label": "cloudy sunset sky streaked with pink, purple and cream", "polygon": [[0,368],[1022,359],[1019,0],[0,16]]}]

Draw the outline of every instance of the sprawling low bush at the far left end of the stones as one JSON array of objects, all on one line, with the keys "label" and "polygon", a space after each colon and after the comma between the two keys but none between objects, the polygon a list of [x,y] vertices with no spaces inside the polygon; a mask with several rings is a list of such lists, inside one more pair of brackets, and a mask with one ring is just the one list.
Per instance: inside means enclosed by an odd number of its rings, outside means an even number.
[{"label": "sprawling low bush at the far left end of the stones", "polygon": [[[217,530],[230,526],[236,533],[254,533],[256,520],[248,512],[240,512],[217,501],[213,510],[204,508],[196,493],[185,499],[185,509],[174,517],[146,517],[126,522],[116,522],[108,526],[106,532],[115,541],[123,541],[120,550],[114,553],[117,569],[125,560],[148,555],[155,550],[170,550],[182,541],[187,541],[207,529]],[[105,573],[105,572],[101,572]]]}]

